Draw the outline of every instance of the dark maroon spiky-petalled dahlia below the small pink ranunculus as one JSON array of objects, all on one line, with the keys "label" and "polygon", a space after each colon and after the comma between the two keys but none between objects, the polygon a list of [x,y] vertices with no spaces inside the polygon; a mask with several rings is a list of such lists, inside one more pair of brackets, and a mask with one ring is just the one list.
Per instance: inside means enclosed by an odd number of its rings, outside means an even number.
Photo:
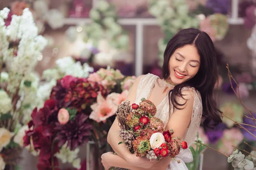
[{"label": "dark maroon spiky-petalled dahlia below the small pink ranunculus", "polygon": [[56,123],[55,130],[57,130],[56,139],[58,139],[58,145],[62,146],[67,142],[67,146],[70,150],[76,149],[79,145],[88,141],[91,135],[90,130],[92,125],[86,121],[88,115],[79,114],[76,115],[76,119],[69,121],[66,125],[61,125],[59,122]]}]

